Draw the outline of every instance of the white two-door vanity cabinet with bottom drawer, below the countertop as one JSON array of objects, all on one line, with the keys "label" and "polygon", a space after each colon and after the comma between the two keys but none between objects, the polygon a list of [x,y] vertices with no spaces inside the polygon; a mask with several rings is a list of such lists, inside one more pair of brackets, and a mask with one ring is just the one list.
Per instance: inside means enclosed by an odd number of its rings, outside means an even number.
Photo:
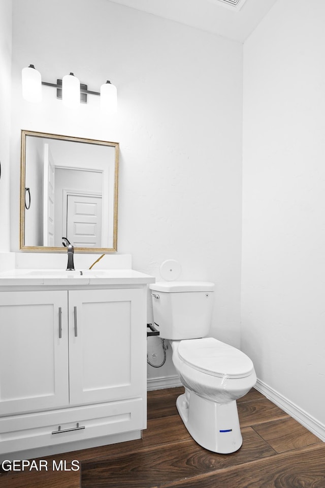
[{"label": "white two-door vanity cabinet with bottom drawer, below the countertop", "polygon": [[57,288],[0,291],[0,460],[146,428],[146,286]]}]

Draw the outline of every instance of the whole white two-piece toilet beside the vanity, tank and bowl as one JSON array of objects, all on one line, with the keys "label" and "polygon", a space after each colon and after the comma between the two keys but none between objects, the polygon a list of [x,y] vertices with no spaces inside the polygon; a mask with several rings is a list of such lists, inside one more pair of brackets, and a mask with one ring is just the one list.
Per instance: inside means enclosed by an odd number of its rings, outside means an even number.
[{"label": "whole white two-piece toilet beside the vanity, tank and bowl", "polygon": [[214,284],[170,281],[149,287],[155,327],[161,338],[169,339],[173,363],[185,387],[176,406],[186,429],[210,451],[237,451],[243,440],[236,400],[254,386],[256,374],[246,354],[206,337]]}]

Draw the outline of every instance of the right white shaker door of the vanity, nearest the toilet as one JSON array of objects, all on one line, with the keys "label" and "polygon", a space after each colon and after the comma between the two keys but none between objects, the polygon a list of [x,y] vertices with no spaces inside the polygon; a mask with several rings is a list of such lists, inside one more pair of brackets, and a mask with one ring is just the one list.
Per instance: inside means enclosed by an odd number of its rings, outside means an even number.
[{"label": "right white shaker door of the vanity, nearest the toilet", "polygon": [[145,290],[69,291],[70,403],[142,396]]}]

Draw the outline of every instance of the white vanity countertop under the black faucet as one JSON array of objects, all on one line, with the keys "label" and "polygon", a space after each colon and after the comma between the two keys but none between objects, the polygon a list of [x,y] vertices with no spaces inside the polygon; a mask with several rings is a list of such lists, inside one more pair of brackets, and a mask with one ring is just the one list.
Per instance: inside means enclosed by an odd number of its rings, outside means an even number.
[{"label": "white vanity countertop under the black faucet", "polygon": [[134,269],[11,269],[0,273],[2,286],[141,285],[155,278]]}]

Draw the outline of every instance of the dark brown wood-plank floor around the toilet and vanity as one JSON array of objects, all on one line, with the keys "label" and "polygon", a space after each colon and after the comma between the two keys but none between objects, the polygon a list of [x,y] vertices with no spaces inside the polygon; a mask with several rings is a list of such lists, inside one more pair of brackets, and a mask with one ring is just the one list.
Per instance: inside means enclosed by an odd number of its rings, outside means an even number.
[{"label": "dark brown wood-plank floor around the toilet and vanity", "polygon": [[0,473],[1,488],[325,488],[325,443],[261,393],[237,402],[242,447],[216,454],[187,433],[175,406],[182,392],[148,392],[142,440],[47,458],[79,460],[80,471]]}]

